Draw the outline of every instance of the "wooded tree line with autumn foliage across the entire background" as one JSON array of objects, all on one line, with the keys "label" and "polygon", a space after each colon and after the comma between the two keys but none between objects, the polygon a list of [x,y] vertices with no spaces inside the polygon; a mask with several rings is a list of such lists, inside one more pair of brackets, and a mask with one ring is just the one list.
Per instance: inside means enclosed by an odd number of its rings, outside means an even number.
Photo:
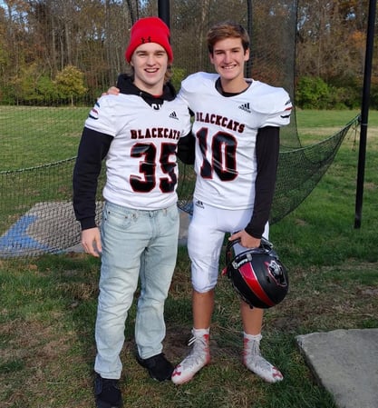
[{"label": "wooded tree line with autumn foliage across the entire background", "polygon": [[[299,0],[294,29],[297,106],[352,108],[361,104],[368,1]],[[123,55],[132,22],[143,15],[157,15],[157,4],[156,0],[3,0],[0,102],[92,104],[126,69]],[[276,68],[286,69],[294,39],[282,45],[284,25],[276,22],[294,15],[296,1],[252,0],[251,4],[258,32],[256,41],[252,38],[253,76],[279,82]],[[211,69],[205,38],[208,25],[230,18],[247,26],[247,13],[247,2],[241,0],[170,1],[176,85],[181,76]],[[272,17],[275,23],[269,23]],[[277,52],[283,46],[286,52]],[[269,59],[267,50],[276,60]],[[378,108],[377,61],[374,55],[374,108]],[[73,69],[74,74],[68,76],[74,81],[62,86],[63,74]]]}]

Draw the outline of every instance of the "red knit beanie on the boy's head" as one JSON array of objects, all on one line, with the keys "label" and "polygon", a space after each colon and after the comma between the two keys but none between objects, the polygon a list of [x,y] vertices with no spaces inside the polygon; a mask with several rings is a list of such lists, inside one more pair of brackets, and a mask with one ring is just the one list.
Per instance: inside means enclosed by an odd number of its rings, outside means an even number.
[{"label": "red knit beanie on the boy's head", "polygon": [[130,63],[135,49],[145,43],[160,44],[167,51],[169,62],[173,61],[172,48],[170,47],[170,28],[159,17],[141,18],[132,25],[130,43],[125,52],[128,63]]}]

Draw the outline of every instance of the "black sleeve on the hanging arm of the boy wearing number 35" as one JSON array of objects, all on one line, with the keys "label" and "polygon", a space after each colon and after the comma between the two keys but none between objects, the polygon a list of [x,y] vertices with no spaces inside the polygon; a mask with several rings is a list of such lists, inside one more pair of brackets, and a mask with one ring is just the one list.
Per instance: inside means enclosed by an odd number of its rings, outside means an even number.
[{"label": "black sleeve on the hanging arm of the boy wearing number 35", "polygon": [[96,193],[102,159],[112,137],[84,127],[73,169],[73,210],[82,230],[96,226]]}]

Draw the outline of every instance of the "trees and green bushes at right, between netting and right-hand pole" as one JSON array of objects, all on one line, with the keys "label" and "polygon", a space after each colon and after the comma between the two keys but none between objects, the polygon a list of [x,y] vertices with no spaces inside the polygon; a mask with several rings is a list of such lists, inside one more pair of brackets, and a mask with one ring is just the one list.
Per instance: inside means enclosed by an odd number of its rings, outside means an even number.
[{"label": "trees and green bushes at right, between netting and right-hand pole", "polygon": [[[301,4],[297,27],[297,104],[323,109],[358,107],[369,0],[313,0]],[[378,109],[378,55],[374,55],[373,64],[372,105]]]}]

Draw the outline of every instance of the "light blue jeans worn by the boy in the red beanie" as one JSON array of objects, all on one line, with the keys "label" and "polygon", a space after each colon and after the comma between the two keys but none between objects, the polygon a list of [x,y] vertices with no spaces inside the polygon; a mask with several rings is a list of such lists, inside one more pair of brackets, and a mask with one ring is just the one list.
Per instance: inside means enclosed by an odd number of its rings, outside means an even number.
[{"label": "light blue jeans worn by the boy in the red beanie", "polygon": [[141,211],[105,203],[94,363],[95,372],[103,378],[121,377],[125,322],[139,278],[135,342],[143,359],[161,353],[166,332],[164,303],[176,264],[178,237],[176,204]]}]

